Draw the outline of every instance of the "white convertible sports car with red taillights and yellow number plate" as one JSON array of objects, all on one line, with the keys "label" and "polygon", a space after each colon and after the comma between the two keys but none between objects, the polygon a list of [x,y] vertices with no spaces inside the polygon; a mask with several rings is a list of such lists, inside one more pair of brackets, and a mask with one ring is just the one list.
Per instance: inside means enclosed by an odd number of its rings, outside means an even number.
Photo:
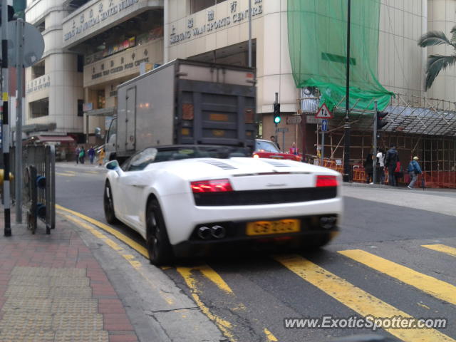
[{"label": "white convertible sports car with red taillights and yellow number plate", "polygon": [[341,175],[238,147],[149,147],[108,162],[105,217],[144,237],[152,264],[232,243],[319,247],[338,231]]}]

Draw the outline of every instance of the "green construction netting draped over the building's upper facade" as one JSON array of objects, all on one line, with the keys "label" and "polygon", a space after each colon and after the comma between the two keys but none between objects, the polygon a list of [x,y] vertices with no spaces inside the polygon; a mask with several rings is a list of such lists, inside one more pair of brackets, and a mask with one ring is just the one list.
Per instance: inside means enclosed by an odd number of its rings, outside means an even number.
[{"label": "green construction netting draped over the building's upper facade", "polygon": [[[330,110],[345,108],[348,0],[288,0],[288,36],[297,88],[316,86]],[[350,106],[379,110],[393,93],[378,82],[380,0],[351,0]]]}]

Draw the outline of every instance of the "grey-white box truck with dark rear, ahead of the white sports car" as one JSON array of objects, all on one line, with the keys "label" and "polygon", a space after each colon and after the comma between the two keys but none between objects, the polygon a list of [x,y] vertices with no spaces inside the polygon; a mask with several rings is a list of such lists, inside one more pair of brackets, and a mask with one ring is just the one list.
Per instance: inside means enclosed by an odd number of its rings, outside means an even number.
[{"label": "grey-white box truck with dark rear, ahead of the white sports car", "polygon": [[123,162],[160,145],[230,145],[254,149],[252,68],[177,59],[118,86],[118,108],[105,158]]}]

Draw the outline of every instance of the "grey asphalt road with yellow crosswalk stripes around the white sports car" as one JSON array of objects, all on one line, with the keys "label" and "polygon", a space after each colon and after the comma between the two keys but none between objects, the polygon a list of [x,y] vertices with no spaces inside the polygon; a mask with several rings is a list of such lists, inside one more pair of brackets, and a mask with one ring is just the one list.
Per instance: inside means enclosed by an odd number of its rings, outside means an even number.
[{"label": "grey asphalt road with yellow crosswalk stripes around the white sports car", "polygon": [[[57,202],[105,222],[104,171],[58,165]],[[341,234],[319,252],[192,260],[163,271],[235,341],[331,341],[355,328],[285,328],[284,318],[447,318],[445,329],[379,329],[456,341],[456,193],[344,187]],[[123,225],[115,227],[141,242]],[[152,266],[151,266],[152,267]],[[352,318],[354,319],[354,318]]]}]

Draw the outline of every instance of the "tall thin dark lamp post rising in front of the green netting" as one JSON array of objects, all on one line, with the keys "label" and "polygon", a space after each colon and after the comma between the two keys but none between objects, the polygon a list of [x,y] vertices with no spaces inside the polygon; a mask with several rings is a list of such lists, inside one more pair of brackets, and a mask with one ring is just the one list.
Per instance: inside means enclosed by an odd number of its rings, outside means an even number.
[{"label": "tall thin dark lamp post rising in front of the green netting", "polygon": [[345,105],[345,124],[343,129],[345,132],[344,147],[343,147],[343,181],[350,182],[351,167],[350,167],[350,121],[348,114],[350,112],[350,16],[351,16],[351,0],[348,0],[347,8],[347,66],[346,66],[346,105]]}]

